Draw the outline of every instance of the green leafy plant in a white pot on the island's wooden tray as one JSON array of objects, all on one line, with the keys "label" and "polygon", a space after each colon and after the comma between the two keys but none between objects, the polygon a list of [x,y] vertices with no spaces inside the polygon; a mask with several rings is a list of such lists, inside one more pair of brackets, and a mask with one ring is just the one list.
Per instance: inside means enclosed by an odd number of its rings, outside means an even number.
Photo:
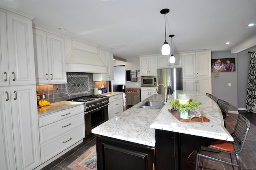
[{"label": "green leafy plant in a white pot on the island's wooden tray", "polygon": [[188,104],[180,103],[179,99],[168,100],[166,103],[172,105],[170,109],[175,108],[176,110],[179,110],[180,118],[183,119],[188,119],[188,112],[193,112],[194,109],[202,105],[202,102],[194,102],[192,99],[189,100]]}]

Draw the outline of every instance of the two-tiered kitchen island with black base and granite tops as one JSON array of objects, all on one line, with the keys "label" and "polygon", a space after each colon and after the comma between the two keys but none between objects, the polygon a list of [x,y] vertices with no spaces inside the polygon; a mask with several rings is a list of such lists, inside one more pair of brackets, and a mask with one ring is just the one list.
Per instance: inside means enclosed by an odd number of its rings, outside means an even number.
[{"label": "two-tiered kitchen island with black base and granite tops", "polygon": [[[182,92],[174,92],[170,99]],[[216,102],[186,93],[203,102],[199,110],[210,122],[180,122],[168,111],[169,104],[160,109],[140,108],[147,101],[163,101],[163,95],[154,94],[92,130],[97,134],[98,168],[184,169],[190,153],[202,144],[216,139],[232,141]],[[132,166],[130,162],[136,163]]]}]

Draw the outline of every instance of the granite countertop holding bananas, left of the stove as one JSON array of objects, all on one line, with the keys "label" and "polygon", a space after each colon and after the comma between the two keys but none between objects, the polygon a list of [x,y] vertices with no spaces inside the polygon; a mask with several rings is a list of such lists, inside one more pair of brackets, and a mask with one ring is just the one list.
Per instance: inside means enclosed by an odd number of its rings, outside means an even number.
[{"label": "granite countertop holding bananas, left of the stove", "polygon": [[80,105],[84,105],[84,102],[61,101],[61,102],[51,103],[48,106],[44,106],[37,109],[38,117],[52,114],[55,112],[59,112],[59,111],[66,110],[66,109],[73,108]]}]

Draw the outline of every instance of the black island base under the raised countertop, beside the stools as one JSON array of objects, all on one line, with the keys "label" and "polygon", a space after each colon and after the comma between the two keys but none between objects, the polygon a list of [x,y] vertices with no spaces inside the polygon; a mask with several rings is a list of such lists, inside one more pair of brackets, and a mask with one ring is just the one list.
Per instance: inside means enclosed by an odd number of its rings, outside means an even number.
[{"label": "black island base under the raised countertop, beside the stools", "polygon": [[166,130],[156,132],[156,169],[157,170],[188,170],[187,160],[197,148],[209,142],[212,138],[194,136]]}]

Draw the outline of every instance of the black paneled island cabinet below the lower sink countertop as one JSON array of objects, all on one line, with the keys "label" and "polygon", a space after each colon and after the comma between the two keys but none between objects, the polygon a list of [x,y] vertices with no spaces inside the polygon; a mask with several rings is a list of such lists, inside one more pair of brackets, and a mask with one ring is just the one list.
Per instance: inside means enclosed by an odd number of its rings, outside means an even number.
[{"label": "black paneled island cabinet below the lower sink countertop", "polygon": [[155,148],[96,136],[99,170],[154,170]]}]

